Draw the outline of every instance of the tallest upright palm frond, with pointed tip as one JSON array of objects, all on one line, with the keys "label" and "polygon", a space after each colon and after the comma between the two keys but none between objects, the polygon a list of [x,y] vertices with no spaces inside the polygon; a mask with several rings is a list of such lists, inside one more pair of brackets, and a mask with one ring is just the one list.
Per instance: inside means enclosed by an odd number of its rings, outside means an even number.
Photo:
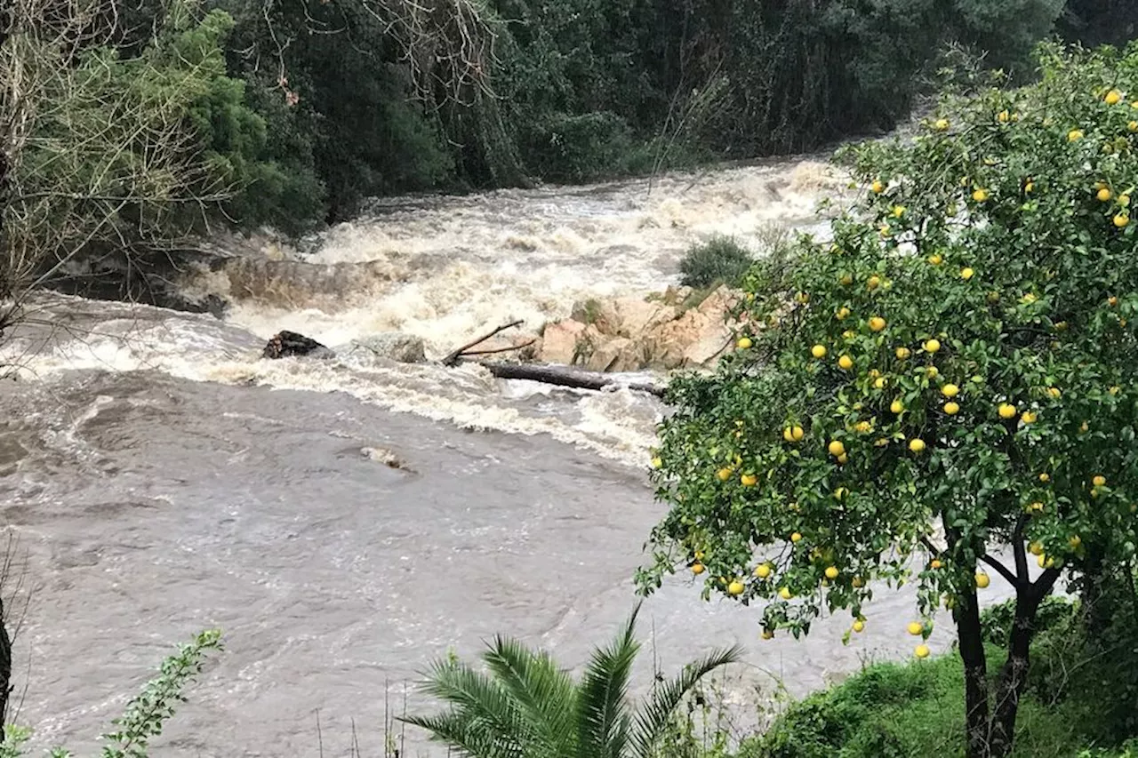
[{"label": "tallest upright palm frond, with pointed tip", "polygon": [[628,678],[640,652],[634,638],[636,603],[628,623],[608,648],[593,651],[593,659],[578,686],[577,726],[580,758],[620,758],[628,743],[632,716]]}]

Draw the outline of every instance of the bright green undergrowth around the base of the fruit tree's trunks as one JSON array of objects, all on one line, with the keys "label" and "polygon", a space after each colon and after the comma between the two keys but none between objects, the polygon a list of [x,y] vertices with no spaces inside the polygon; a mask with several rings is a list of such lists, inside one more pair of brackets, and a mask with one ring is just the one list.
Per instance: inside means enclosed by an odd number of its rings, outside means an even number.
[{"label": "bright green undergrowth around the base of the fruit tree's trunks", "polygon": [[[1032,685],[1022,703],[1014,756],[1069,758],[1127,756],[1135,726],[1130,693],[1115,685],[1129,659],[1103,656],[1099,642],[1078,624],[1075,605],[1048,603],[1041,615]],[[999,605],[992,619],[1011,618]],[[1129,625],[1129,618],[1120,618]],[[997,621],[998,623],[998,621]],[[1128,631],[1131,646],[1132,628]],[[1003,641],[1000,641],[1003,642]],[[989,660],[1000,661],[992,646]],[[1129,656],[1132,656],[1129,652]],[[998,666],[990,668],[995,677]],[[1062,674],[1061,674],[1062,673]],[[1131,677],[1132,678],[1132,677]],[[947,654],[912,664],[877,664],[825,692],[792,705],[761,738],[740,750],[740,758],[924,758],[956,756],[964,750],[959,723],[964,673],[959,658]],[[1108,715],[1096,710],[1110,706]],[[1089,749],[1087,745],[1097,745]],[[1087,749],[1085,749],[1087,748]]]}]

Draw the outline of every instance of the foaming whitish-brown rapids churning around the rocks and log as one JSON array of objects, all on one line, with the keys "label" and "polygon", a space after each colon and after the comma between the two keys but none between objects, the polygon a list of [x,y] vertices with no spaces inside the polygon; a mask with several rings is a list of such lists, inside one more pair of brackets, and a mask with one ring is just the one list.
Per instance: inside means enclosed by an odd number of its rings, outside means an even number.
[{"label": "foaming whitish-brown rapids churning around the rocks and log", "polygon": [[[378,203],[371,217],[329,230],[305,259],[316,266],[294,267],[297,277],[315,274],[307,281],[321,288],[307,303],[305,281],[274,281],[269,294],[237,299],[222,323],[47,296],[48,311],[73,315],[81,305],[88,333],[55,335],[32,351],[15,340],[5,351],[27,376],[154,370],[197,381],[344,392],[463,428],[546,434],[644,467],[663,409],[643,394],[501,382],[478,366],[363,365],[347,355],[264,361],[258,341],[288,329],[336,347],[403,331],[423,338],[437,357],[514,320],[537,331],[568,316],[575,302],[644,296],[676,283],[683,252],[711,234],[757,245],[772,223],[816,226],[818,199],[841,188],[825,164],[786,160],[651,182],[391,199]],[[279,247],[263,255],[298,257]],[[324,272],[336,278],[331,290]],[[225,270],[200,271],[189,287],[230,298],[241,289]],[[274,302],[272,293],[282,296]]]}]

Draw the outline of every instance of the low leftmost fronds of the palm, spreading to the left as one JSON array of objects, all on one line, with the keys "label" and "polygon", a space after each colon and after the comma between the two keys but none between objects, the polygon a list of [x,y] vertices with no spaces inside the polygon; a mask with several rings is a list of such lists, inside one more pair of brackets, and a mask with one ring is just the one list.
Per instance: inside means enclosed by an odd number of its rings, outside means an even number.
[{"label": "low leftmost fronds of the palm, spreading to the left", "polygon": [[[430,731],[435,739],[461,750],[468,750],[470,745],[495,745],[489,752],[470,753],[478,758],[528,755],[526,748],[533,741],[529,725],[495,679],[465,664],[442,660],[431,666],[421,689],[450,705],[450,712],[432,717],[404,717],[401,720],[421,726]],[[436,727],[445,727],[446,731],[436,731]],[[453,741],[452,738],[461,740]]]}]

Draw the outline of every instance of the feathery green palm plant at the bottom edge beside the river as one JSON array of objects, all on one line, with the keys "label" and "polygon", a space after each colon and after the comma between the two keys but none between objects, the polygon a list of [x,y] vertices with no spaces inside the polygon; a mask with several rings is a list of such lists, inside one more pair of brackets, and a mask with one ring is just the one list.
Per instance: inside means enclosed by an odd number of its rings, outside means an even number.
[{"label": "feathery green palm plant at the bottom edge beside the river", "polygon": [[424,691],[450,710],[405,720],[472,758],[650,758],[684,695],[740,651],[714,652],[661,679],[633,710],[627,690],[640,652],[635,623],[634,611],[609,646],[593,651],[578,682],[549,654],[501,636],[483,653],[488,673],[453,658],[437,661]]}]

